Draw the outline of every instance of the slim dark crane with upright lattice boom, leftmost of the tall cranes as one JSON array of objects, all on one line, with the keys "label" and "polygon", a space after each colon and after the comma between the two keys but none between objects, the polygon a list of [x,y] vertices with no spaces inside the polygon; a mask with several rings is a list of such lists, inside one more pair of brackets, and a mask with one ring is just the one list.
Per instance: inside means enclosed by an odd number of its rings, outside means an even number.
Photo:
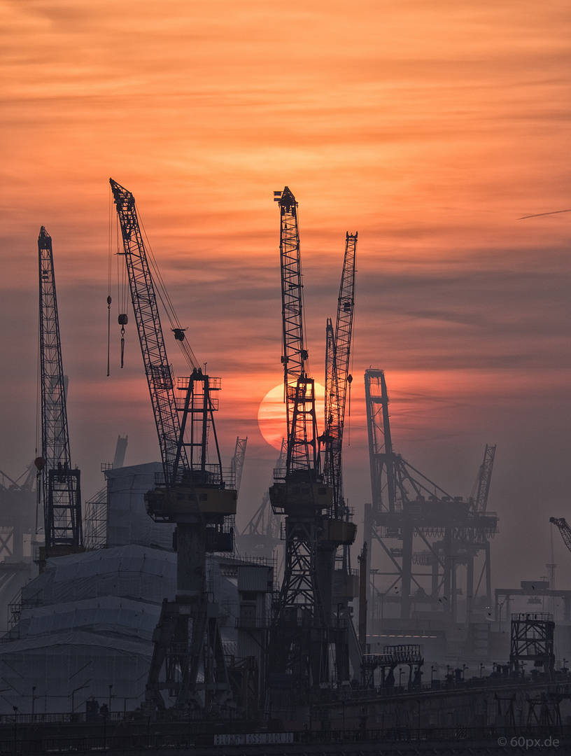
[{"label": "slim dark crane with upright lattice boom, leftmost of the tall cranes", "polygon": [[60,324],[51,237],[42,226],[39,250],[40,382],[42,454],[36,466],[42,476],[45,546],[40,567],[50,556],[83,549],[82,499],[79,469],[69,454],[66,388],[61,357]]}]

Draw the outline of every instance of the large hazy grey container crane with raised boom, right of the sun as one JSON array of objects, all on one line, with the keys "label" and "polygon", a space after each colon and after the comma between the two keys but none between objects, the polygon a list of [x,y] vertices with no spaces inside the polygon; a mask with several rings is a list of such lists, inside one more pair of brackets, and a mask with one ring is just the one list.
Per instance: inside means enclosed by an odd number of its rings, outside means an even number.
[{"label": "large hazy grey container crane with raised boom, right of the sun", "polygon": [[[497,516],[474,510],[470,500],[452,497],[406,462],[393,449],[387,384],[383,370],[366,370],[365,395],[369,430],[372,504],[366,504],[363,539],[378,542],[394,572],[394,581],[384,591],[384,600],[400,604],[400,619],[408,621],[413,590],[422,603],[455,619],[455,568],[469,562],[468,533],[486,540],[497,531]],[[489,466],[491,474],[491,466]],[[489,487],[489,481],[488,481]],[[426,551],[413,553],[418,536]],[[439,539],[439,540],[434,540]],[[391,546],[391,541],[400,542]],[[471,544],[477,549],[477,546]],[[474,551],[474,548],[472,551]],[[413,565],[430,572],[413,572]],[[472,578],[469,578],[470,581]],[[472,586],[467,593],[472,594]]]}]

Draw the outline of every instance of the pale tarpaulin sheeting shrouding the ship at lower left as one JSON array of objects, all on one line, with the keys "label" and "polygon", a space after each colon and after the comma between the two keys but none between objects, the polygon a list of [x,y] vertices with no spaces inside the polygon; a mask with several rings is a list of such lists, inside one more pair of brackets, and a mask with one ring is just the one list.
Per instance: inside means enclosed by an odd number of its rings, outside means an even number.
[{"label": "pale tarpaulin sheeting shrouding the ship at lower left", "polygon": [[[144,508],[160,469],[107,471],[111,547],[48,559],[23,588],[20,621],[0,643],[0,713],[85,712],[86,701],[109,705],[110,696],[112,711],[122,711],[144,699],[162,600],[176,593],[173,526]],[[236,579],[221,561],[208,559],[208,589],[229,617],[232,642]]]}]

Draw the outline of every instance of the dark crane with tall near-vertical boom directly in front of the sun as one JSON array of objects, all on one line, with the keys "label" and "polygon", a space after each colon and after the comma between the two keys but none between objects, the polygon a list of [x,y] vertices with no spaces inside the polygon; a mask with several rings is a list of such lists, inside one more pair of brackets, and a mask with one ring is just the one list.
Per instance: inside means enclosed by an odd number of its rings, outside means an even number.
[{"label": "dark crane with tall near-vertical boom directly in front of the sun", "polygon": [[332,579],[335,548],[353,541],[354,525],[332,517],[333,491],[320,468],[315,383],[307,375],[303,333],[298,203],[289,187],[274,193],[274,200],[280,212],[288,440],[286,467],[275,471],[270,488],[274,512],[285,515],[285,560],[270,629],[268,668],[270,675],[292,674],[296,695],[303,698],[308,686],[329,680],[329,643],[337,649],[338,679],[348,675],[347,633],[341,626],[332,627]]}]

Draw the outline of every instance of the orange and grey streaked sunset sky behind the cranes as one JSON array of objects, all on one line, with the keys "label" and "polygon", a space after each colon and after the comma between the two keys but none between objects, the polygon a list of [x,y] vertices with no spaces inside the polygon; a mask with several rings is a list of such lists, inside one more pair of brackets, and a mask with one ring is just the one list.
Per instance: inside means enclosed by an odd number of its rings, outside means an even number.
[{"label": "orange and grey streaked sunset sky behind the cranes", "polygon": [[[282,380],[279,212],[299,203],[310,371],[323,381],[344,238],[359,234],[345,494],[370,500],[363,374],[396,451],[468,496],[496,444],[495,587],[571,554],[571,11],[566,0],[0,0],[0,469],[37,438],[37,237],[54,246],[84,499],[128,435],[159,457],[121,300],[109,178],[131,191],[187,338],[220,376],[223,456],[248,436],[238,524],[271,482],[257,423]],[[106,376],[109,268],[111,375]],[[169,358],[184,374],[172,342]],[[357,536],[360,542],[360,537]]]}]

